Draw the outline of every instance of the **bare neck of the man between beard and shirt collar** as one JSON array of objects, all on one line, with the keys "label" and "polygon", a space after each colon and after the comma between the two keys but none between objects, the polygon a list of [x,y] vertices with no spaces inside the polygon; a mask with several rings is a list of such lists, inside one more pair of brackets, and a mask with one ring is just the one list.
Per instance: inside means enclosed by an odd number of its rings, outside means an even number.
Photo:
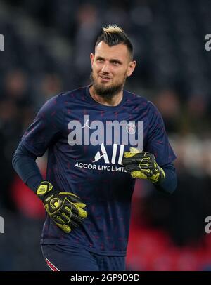
[{"label": "bare neck of the man between beard and shirt collar", "polygon": [[93,86],[91,86],[89,88],[89,93],[91,95],[91,98],[93,98],[96,102],[98,102],[102,105],[106,105],[106,106],[117,106],[117,105],[119,105],[120,102],[122,101],[122,97],[123,97],[123,91],[120,91],[119,93],[115,94],[115,96],[113,96],[112,98],[101,97],[101,96],[96,94]]}]

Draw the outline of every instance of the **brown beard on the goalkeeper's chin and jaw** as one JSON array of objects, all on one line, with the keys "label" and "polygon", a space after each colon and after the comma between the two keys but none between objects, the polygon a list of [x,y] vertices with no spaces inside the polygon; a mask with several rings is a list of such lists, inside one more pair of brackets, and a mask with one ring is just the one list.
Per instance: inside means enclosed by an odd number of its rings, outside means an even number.
[{"label": "brown beard on the goalkeeper's chin and jaw", "polygon": [[120,93],[120,91],[122,91],[126,77],[122,83],[113,86],[103,86],[103,84],[98,84],[96,82],[96,79],[94,79],[93,72],[90,74],[90,79],[94,91],[98,96],[101,96],[103,98],[113,98],[115,95],[117,95],[117,93]]}]

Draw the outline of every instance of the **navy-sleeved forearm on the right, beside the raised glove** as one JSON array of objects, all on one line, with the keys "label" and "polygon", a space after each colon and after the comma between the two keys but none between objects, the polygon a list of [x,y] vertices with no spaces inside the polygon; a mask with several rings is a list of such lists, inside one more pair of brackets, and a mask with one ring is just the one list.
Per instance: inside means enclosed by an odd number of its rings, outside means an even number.
[{"label": "navy-sleeved forearm on the right, beside the raised glove", "polygon": [[165,171],[165,180],[162,183],[154,184],[156,189],[160,192],[172,194],[177,187],[177,173],[173,164],[162,166]]}]

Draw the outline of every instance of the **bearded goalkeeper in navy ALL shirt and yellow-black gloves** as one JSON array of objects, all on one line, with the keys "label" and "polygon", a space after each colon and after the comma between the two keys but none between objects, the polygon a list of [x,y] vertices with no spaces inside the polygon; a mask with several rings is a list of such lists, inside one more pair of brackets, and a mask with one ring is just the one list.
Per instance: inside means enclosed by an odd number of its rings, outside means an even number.
[{"label": "bearded goalkeeper in navy ALL shirt and yellow-black gloves", "polygon": [[[162,117],[123,90],[135,66],[122,29],[103,28],[91,85],[46,102],[14,154],[15,171],[46,208],[41,246],[51,270],[124,270],[134,178],[162,192],[177,185]],[[35,159],[46,150],[44,181]]]}]

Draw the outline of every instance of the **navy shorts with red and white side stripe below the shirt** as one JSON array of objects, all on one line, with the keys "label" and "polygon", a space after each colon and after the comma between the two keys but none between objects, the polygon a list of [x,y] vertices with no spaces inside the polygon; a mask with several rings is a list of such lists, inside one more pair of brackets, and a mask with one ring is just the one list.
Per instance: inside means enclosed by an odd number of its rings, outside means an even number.
[{"label": "navy shorts with red and white side stripe below the shirt", "polygon": [[101,256],[84,248],[44,244],[41,250],[53,271],[124,271],[125,256]]}]

